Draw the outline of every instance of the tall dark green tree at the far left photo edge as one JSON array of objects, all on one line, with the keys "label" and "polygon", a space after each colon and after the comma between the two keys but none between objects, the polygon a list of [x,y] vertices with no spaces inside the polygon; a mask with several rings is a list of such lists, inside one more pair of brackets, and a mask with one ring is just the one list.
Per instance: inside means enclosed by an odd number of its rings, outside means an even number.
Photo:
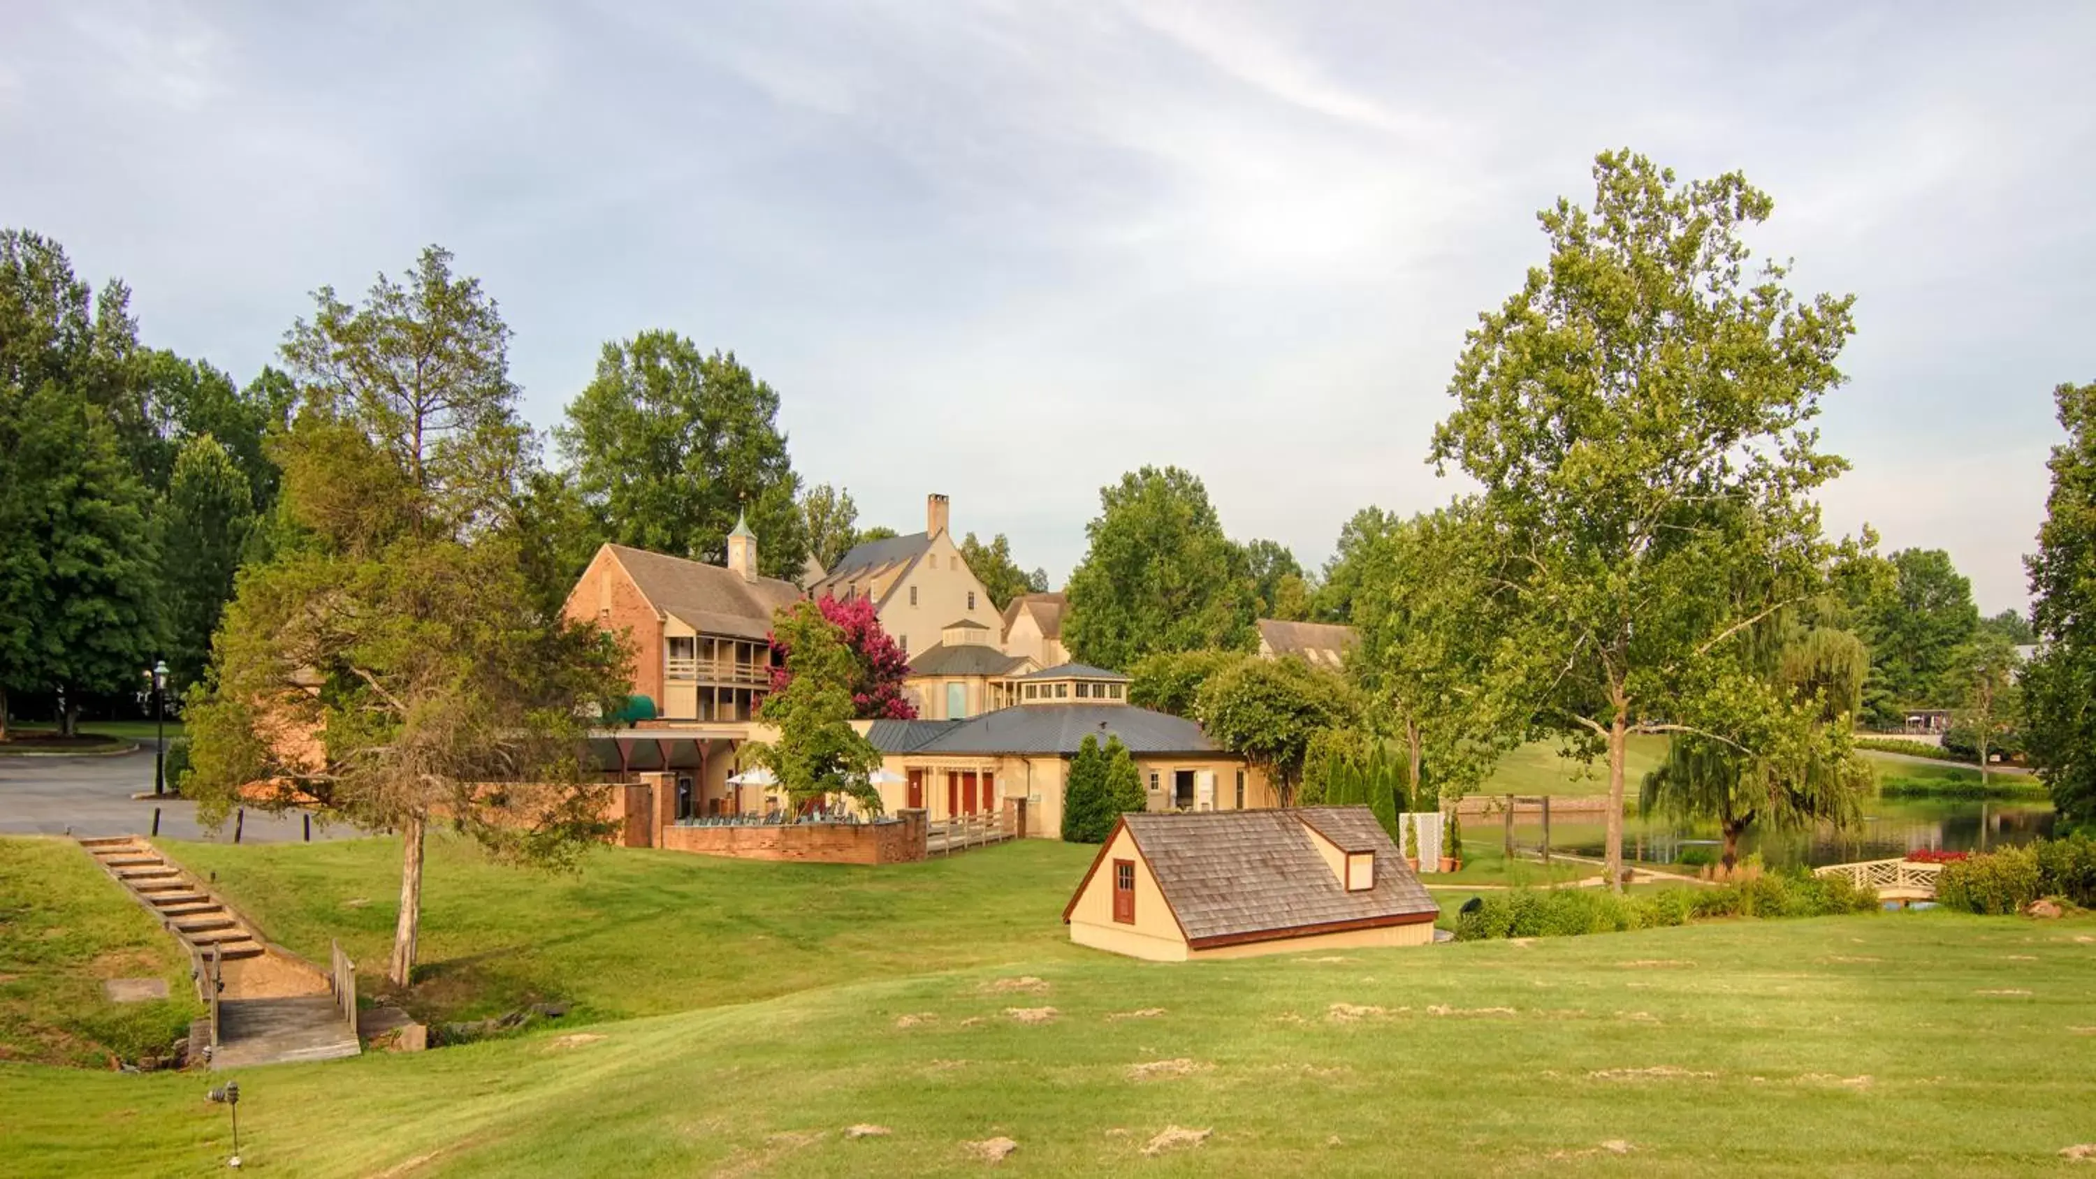
[{"label": "tall dark green tree at the far left photo edge", "polygon": [[0,230],[0,735],[8,691],[124,691],[159,649],[128,291]]}]

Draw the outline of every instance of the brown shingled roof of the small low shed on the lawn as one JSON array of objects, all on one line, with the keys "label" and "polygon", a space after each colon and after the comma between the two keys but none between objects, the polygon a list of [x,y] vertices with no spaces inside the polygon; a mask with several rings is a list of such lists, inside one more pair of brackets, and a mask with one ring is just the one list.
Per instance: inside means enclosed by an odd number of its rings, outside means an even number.
[{"label": "brown shingled roof of the small low shed on the lawn", "polygon": [[[1367,806],[1132,813],[1121,823],[1195,949],[1440,915]],[[1306,827],[1341,850],[1375,852],[1375,888],[1348,892]]]}]

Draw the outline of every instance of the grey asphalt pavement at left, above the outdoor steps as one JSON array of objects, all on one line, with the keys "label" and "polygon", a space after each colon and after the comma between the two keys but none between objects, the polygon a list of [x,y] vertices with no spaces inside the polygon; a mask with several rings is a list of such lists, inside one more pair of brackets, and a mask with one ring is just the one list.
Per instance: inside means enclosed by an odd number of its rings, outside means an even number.
[{"label": "grey asphalt pavement at left, above the outdoor steps", "polygon": [[[153,741],[140,741],[138,752],[113,758],[23,758],[0,756],[0,833],[23,836],[145,836],[153,831],[153,808],[159,806],[159,833],[170,840],[233,842],[233,819],[208,831],[197,825],[197,804],[180,798],[159,802],[134,800],[132,794],[153,794]],[[354,827],[319,823],[314,840],[358,836]],[[306,838],[298,813],[268,815],[247,810],[241,823],[243,844],[283,844]]]}]

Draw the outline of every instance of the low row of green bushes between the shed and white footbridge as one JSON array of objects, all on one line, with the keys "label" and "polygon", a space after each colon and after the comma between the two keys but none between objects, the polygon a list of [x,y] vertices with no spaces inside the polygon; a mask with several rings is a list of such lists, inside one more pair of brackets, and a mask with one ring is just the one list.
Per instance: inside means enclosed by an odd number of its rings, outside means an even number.
[{"label": "low row of green bushes between the shed and white footbridge", "polygon": [[1599,888],[1509,888],[1480,896],[1457,913],[1457,940],[1555,938],[1656,930],[1712,917],[1824,917],[1830,913],[1872,913],[1878,894],[1855,888],[1847,877],[1807,873],[1761,875],[1721,888],[1662,888],[1641,896],[1616,896]]}]

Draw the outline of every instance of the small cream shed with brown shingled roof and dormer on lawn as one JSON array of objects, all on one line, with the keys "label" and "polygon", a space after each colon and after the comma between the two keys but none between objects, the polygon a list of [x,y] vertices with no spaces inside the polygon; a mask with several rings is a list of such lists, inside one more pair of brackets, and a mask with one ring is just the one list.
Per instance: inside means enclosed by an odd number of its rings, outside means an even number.
[{"label": "small cream shed with brown shingled roof and dormer on lawn", "polygon": [[1121,815],[1069,940],[1153,961],[1434,940],[1440,905],[1367,806]]}]

